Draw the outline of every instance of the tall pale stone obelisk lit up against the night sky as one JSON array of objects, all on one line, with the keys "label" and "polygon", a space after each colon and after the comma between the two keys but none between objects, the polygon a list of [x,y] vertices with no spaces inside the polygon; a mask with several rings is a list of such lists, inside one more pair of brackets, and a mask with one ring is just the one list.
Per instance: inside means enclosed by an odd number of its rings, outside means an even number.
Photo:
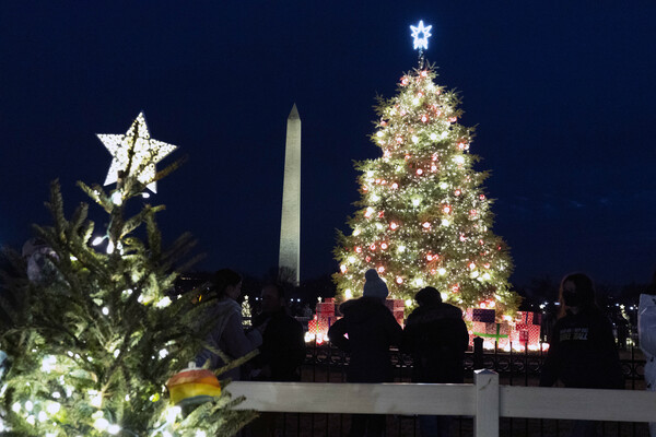
[{"label": "tall pale stone obelisk lit up against the night sky", "polygon": [[296,104],[288,117],[282,184],[282,220],[280,223],[280,256],[278,268],[293,271],[295,283],[301,277],[301,117]]}]

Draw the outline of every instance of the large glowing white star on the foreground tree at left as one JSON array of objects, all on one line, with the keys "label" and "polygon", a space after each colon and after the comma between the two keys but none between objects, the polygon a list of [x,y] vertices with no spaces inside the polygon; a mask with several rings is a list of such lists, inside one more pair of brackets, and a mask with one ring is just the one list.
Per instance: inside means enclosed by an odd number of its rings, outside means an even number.
[{"label": "large glowing white star on the foreground tree at left", "polygon": [[119,173],[125,172],[157,192],[155,164],[177,146],[151,139],[143,113],[139,113],[125,134],[97,133],[97,137],[113,156],[106,186],[118,181]]}]

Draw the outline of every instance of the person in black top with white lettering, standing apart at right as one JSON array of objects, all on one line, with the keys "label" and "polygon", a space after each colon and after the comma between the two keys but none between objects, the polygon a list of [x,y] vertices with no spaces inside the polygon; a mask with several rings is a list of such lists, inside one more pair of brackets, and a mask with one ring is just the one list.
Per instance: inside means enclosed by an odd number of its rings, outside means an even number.
[{"label": "person in black top with white lettering, standing apart at right", "polygon": [[[593,281],[583,273],[563,277],[561,315],[553,327],[541,387],[557,380],[567,388],[623,389],[624,381],[610,320],[595,304]],[[571,436],[596,436],[596,423],[576,421]]]}]

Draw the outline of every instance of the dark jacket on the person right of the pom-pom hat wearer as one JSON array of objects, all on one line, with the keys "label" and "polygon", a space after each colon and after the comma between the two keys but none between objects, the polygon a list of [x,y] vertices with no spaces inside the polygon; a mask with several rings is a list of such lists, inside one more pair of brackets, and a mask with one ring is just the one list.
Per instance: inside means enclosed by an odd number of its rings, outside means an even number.
[{"label": "dark jacket on the person right of the pom-pom hat wearer", "polygon": [[406,322],[402,351],[412,355],[412,381],[462,383],[469,333],[462,311],[437,304],[417,308]]}]

